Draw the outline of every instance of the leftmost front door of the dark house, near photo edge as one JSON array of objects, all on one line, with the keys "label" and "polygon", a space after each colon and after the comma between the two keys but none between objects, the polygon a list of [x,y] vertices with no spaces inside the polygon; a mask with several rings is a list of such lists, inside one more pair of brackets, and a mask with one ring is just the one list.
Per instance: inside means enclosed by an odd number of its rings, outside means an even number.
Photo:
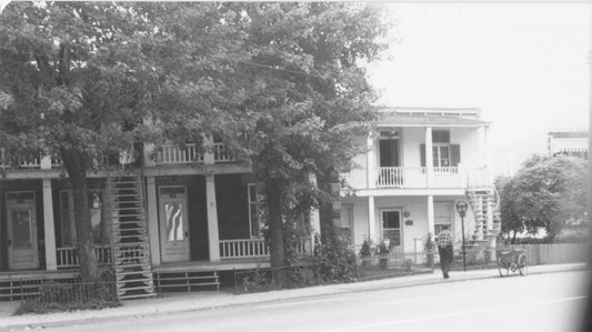
[{"label": "leftmost front door of the dark house, near photo edge", "polygon": [[8,268],[39,268],[34,192],[7,193]]}]

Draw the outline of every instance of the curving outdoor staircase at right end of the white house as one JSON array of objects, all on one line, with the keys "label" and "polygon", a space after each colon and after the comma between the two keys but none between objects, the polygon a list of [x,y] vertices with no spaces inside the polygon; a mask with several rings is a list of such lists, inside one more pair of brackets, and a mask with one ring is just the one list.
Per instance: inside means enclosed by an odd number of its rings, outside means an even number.
[{"label": "curving outdoor staircase at right end of the white house", "polygon": [[466,239],[466,261],[488,261],[486,249],[492,249],[501,231],[500,197],[495,188],[468,189],[466,198],[474,215],[474,227]]}]

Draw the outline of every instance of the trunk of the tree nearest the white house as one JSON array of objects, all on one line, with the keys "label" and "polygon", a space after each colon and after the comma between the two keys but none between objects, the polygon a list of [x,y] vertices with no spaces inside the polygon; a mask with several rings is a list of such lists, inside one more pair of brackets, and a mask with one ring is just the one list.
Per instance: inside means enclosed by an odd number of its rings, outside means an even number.
[{"label": "trunk of the tree nearest the white house", "polygon": [[[269,209],[269,230],[271,233],[271,268],[284,266],[283,255],[283,220],[282,220],[282,188],[277,179],[265,181],[265,199]],[[283,274],[283,273],[282,273]],[[279,282],[283,281],[279,275]]]}]

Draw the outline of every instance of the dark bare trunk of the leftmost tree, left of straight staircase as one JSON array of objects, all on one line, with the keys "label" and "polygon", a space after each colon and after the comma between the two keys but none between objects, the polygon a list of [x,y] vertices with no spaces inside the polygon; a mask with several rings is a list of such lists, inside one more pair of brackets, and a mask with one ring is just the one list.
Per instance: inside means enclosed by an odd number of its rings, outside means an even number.
[{"label": "dark bare trunk of the leftmost tree, left of straight staircase", "polygon": [[80,278],[83,282],[97,281],[99,269],[94,256],[86,163],[81,153],[74,150],[62,150],[61,155],[72,187]]}]

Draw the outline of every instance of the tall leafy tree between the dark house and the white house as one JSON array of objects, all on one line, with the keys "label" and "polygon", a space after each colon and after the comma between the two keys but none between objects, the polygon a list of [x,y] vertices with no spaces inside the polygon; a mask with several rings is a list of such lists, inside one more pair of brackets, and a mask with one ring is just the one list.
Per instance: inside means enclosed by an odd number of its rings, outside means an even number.
[{"label": "tall leafy tree between the dark house and the white house", "polygon": [[388,26],[379,10],[352,3],[254,3],[247,17],[253,89],[244,111],[253,125],[241,143],[264,185],[279,268],[283,222],[328,197],[311,175],[322,182],[359,152],[354,138],[373,119],[375,97],[361,61],[379,58]]}]

